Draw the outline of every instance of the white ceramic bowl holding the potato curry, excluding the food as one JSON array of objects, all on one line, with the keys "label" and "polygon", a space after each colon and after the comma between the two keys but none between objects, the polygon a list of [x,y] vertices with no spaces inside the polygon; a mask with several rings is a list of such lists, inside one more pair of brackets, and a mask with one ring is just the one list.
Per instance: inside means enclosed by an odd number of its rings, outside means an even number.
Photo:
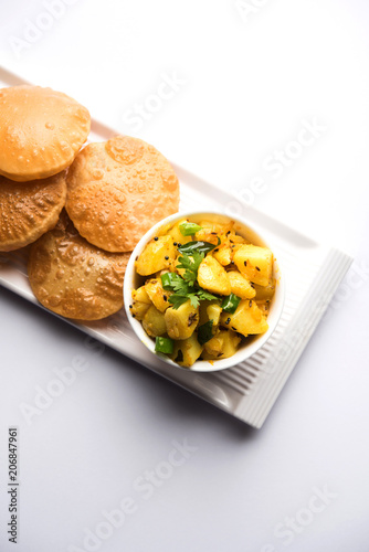
[{"label": "white ceramic bowl holding the potato curry, excluding the food", "polygon": [[[136,245],[134,252],[130,255],[127,268],[126,268],[126,274],[125,274],[125,279],[124,279],[124,304],[125,304],[125,309],[127,312],[128,320],[130,322],[130,326],[133,327],[136,336],[138,339],[145,343],[145,346],[152,352],[152,354],[158,355],[158,353],[155,352],[155,340],[151,339],[146,331],[143,328],[143,325],[140,321],[136,320],[129,310],[129,305],[133,302],[131,298],[131,291],[133,289],[137,289],[140,285],[143,285],[145,277],[139,276],[136,273],[135,269],[135,261],[136,258],[141,254],[144,251],[146,244],[152,240],[156,235],[160,234],[160,230],[164,226],[167,226],[169,223],[175,224],[178,220],[181,219],[187,219],[189,217],[191,221],[199,223],[200,221],[207,220],[207,221],[213,221],[213,222],[220,222],[220,223],[226,223],[230,222],[231,220],[234,221],[234,229],[238,234],[246,237],[250,240],[255,245],[261,245],[261,246],[267,246],[271,248],[273,252],[273,244],[265,243],[265,241],[262,238],[260,234],[253,230],[252,225],[247,224],[245,221],[238,216],[226,216],[221,213],[217,212],[207,212],[207,211],[190,211],[190,212],[184,212],[184,213],[176,213],[170,216],[167,216],[167,219],[164,219],[162,221],[158,222],[155,226],[152,226],[151,230],[149,230],[138,242]],[[275,286],[275,294],[272,299],[271,306],[270,306],[270,312],[267,316],[267,323],[268,323],[268,329],[265,333],[261,333],[260,336],[255,336],[251,341],[247,341],[243,343],[238,352],[233,354],[232,357],[228,359],[220,359],[220,360],[214,360],[212,362],[209,362],[207,360],[198,360],[192,364],[191,368],[183,368],[170,360],[166,354],[159,354],[159,357],[167,362],[168,364],[171,364],[173,368],[181,369],[181,370],[192,370],[194,372],[214,372],[217,370],[223,370],[225,368],[233,367],[235,364],[239,364],[240,362],[249,359],[252,354],[254,354],[271,337],[273,333],[278,320],[283,310],[283,304],[284,304],[284,278],[283,275],[281,275],[280,267],[277,265],[276,259],[274,259],[274,277],[276,278],[276,286]]]}]

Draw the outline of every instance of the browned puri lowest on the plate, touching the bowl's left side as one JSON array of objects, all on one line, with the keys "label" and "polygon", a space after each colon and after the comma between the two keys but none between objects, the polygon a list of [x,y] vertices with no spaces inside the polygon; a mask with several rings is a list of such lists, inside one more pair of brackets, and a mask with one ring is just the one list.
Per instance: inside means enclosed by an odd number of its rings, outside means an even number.
[{"label": "browned puri lowest on the plate, touching the bowl's left side", "polygon": [[48,309],[66,318],[98,320],[123,307],[128,258],[127,253],[91,245],[63,211],[55,229],[32,245],[28,274],[35,297]]}]

